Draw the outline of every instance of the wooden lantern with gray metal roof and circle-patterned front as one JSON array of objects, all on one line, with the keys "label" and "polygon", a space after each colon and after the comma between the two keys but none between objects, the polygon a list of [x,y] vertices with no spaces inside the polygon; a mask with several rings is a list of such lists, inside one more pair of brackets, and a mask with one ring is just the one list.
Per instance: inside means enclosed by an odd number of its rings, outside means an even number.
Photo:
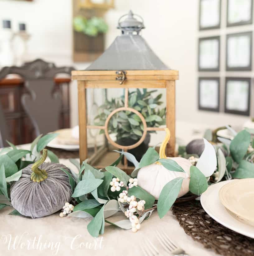
[{"label": "wooden lantern with gray metal roof and circle-patterned front", "polygon": [[[130,17],[132,16],[132,17]],[[133,13],[128,14],[128,18],[133,18]],[[128,20],[128,19],[127,19]],[[133,23],[128,27],[125,20],[125,27],[119,22],[122,30],[122,36],[115,39],[115,42],[101,55],[95,62],[91,64],[85,71],[72,71],[73,80],[78,81],[78,111],[79,111],[79,141],[80,141],[80,161],[87,159],[87,129],[102,129],[105,130],[107,141],[118,149],[125,152],[129,149],[140,145],[148,131],[164,130],[165,127],[148,127],[141,113],[134,108],[128,106],[129,88],[165,88],[166,89],[166,127],[171,132],[171,139],[167,144],[167,155],[174,156],[175,151],[175,81],[178,79],[178,71],[170,70],[162,63],[159,58],[148,47],[143,38],[137,34],[125,32],[134,30],[139,32],[143,28],[143,21],[136,23],[134,28]],[[138,31],[137,31],[138,30]],[[130,40],[129,40],[129,37]],[[124,43],[122,43],[124,42]],[[131,42],[132,45],[126,49],[126,42]],[[123,45],[123,54],[121,52]],[[116,48],[117,47],[117,51]],[[135,52],[135,47],[138,49]],[[140,51],[143,49],[143,52]],[[137,61],[141,58],[141,61]],[[147,63],[143,60],[147,60]],[[107,61],[108,60],[108,61]],[[123,61],[122,61],[123,60]],[[105,65],[105,63],[107,63]],[[107,117],[104,126],[94,126],[87,124],[87,103],[86,89],[87,88],[124,88],[125,89],[125,105],[124,107],[115,109]],[[108,123],[111,117],[118,111],[130,111],[138,115],[143,122],[143,135],[134,145],[123,146],[113,141],[108,133]],[[105,154],[105,152],[101,152]],[[133,168],[128,168],[127,160],[124,160],[125,168],[130,172]],[[98,166],[101,167],[101,166]]]}]

